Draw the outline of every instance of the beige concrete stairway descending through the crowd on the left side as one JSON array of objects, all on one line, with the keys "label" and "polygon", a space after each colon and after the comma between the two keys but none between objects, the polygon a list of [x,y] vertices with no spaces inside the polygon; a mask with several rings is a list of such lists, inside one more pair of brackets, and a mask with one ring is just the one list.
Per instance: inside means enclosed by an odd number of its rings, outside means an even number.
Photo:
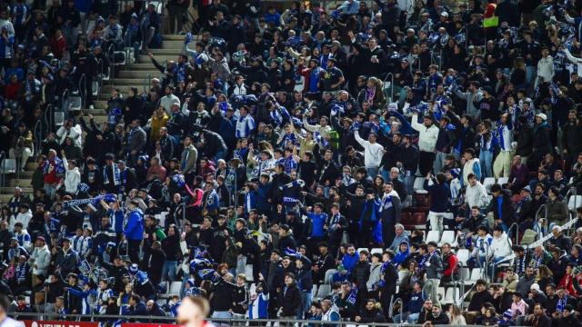
[{"label": "beige concrete stairway descending through the crowd on the left side", "polygon": [[[160,64],[164,64],[167,60],[176,61],[178,54],[182,52],[184,37],[184,35],[164,35],[162,48],[150,49],[150,52],[154,54],[156,61]],[[119,89],[121,94],[126,97],[130,87],[137,87],[140,93],[144,92],[144,86],[146,85],[147,87],[148,83],[147,74],[150,74],[152,78],[160,77],[161,73],[154,67],[147,55],[140,54],[135,59],[135,64],[130,64],[129,69],[123,67],[117,78],[104,81],[100,94],[94,99],[94,110],[86,110],[87,114],[93,114],[95,123],[100,124],[107,120],[105,109],[107,107],[107,99],[111,97],[113,88]],[[7,174],[5,176],[5,187],[0,187],[0,202],[8,203],[10,201],[15,186],[20,186],[32,199],[33,188],[31,182],[36,167],[35,158],[31,156],[26,164],[24,173],[20,173],[20,176],[16,176],[15,173]]]}]

